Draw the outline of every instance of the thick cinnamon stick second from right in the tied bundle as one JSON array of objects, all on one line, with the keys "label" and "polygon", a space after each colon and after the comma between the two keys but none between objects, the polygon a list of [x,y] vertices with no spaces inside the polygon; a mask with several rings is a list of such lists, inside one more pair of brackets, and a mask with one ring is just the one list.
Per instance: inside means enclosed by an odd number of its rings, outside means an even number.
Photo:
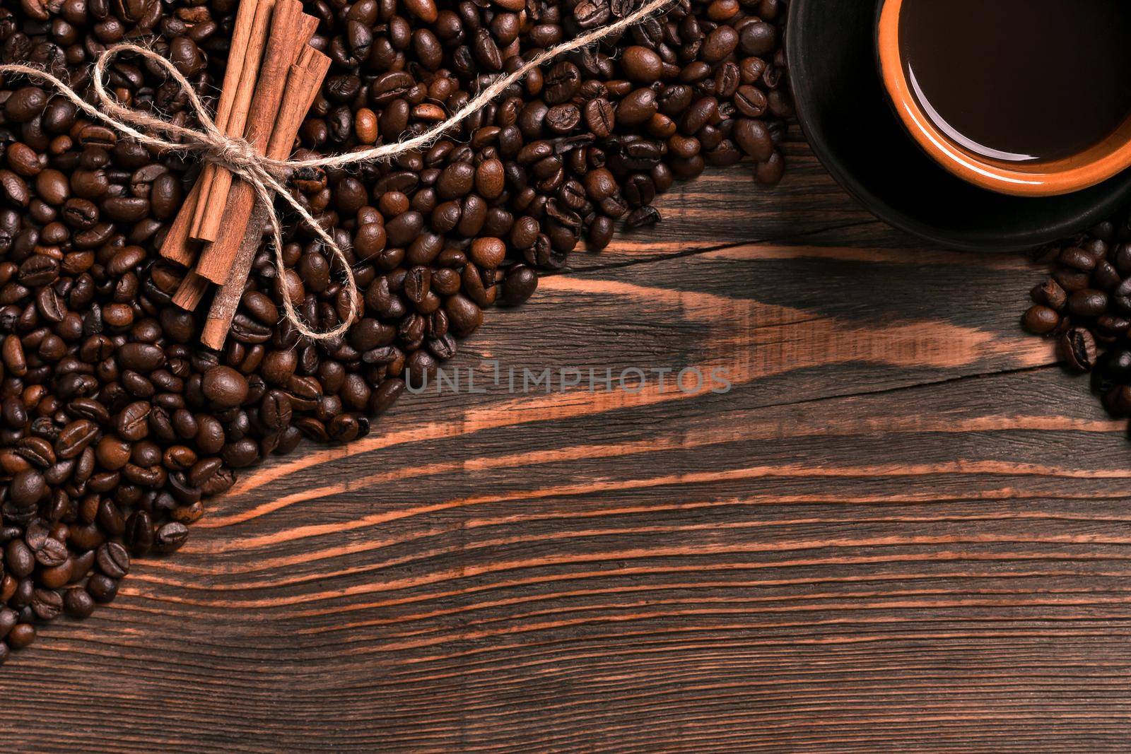
[{"label": "thick cinnamon stick second from right in the tied bundle", "polygon": [[[271,36],[267,43],[267,59],[259,75],[260,85],[251,103],[248,116],[248,130],[244,139],[259,153],[266,154],[267,144],[275,130],[280,112],[283,92],[287,83],[291,66],[299,60],[299,54],[314,36],[318,19],[302,12],[299,0],[278,0],[275,6],[275,20],[271,24]],[[305,112],[303,112],[305,114]],[[197,275],[213,283],[222,284],[227,279],[243,232],[248,227],[251,210],[256,205],[256,192],[244,181],[233,184],[228,192],[226,206],[219,211],[223,223],[215,243],[207,244],[197,259]]]}]

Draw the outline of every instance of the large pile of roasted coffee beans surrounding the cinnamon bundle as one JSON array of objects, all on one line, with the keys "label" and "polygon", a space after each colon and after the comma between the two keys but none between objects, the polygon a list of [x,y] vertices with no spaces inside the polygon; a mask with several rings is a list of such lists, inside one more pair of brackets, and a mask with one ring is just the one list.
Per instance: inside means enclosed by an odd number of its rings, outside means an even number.
[{"label": "large pile of roasted coffee beans surrounding the cinnamon bundle", "polygon": [[[309,0],[334,67],[299,154],[418,133],[524,57],[638,2]],[[214,101],[235,10],[12,0],[0,60],[86,90],[102,50],[143,41]],[[200,166],[0,80],[0,661],[37,622],[112,600],[132,556],[178,549],[233,469],[304,436],[368,433],[483,310],[526,301],[539,271],[599,251],[618,225],[659,220],[653,201],[673,181],[749,158],[757,181],[776,183],[792,114],[784,17],[784,0],[681,0],[533,72],[425,151],[296,174],[294,196],[352,250],[364,318],[322,344],[280,321],[283,296],[319,329],[345,311],[342,270],[296,226],[285,276],[266,250],[257,258],[219,353],[198,345],[202,314],[171,304],[183,270],[156,254]],[[123,103],[192,125],[184,93],[150,64],[120,59],[111,84]]]}]

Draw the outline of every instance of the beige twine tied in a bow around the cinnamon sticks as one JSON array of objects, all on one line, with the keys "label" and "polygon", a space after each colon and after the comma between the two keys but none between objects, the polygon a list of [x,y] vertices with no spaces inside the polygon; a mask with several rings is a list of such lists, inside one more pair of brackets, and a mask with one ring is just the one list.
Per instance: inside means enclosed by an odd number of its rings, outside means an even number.
[{"label": "beige twine tied in a bow around the cinnamon sticks", "polygon": [[[69,99],[76,107],[81,110],[88,116],[105,123],[115,131],[128,136],[139,144],[169,151],[199,153],[206,161],[216,163],[227,168],[233,175],[245,181],[252,189],[254,189],[258,201],[261,202],[266,209],[265,214],[267,222],[271,228],[271,243],[275,251],[275,267],[279,276],[280,284],[285,286],[287,268],[283,260],[283,226],[279,220],[278,213],[275,210],[275,197],[282,197],[286,203],[290,205],[291,209],[293,209],[314,232],[318,240],[333,252],[334,257],[338,260],[338,262],[340,262],[343,270],[345,270],[349,312],[345,321],[331,330],[318,332],[307,327],[307,324],[300,319],[294,309],[294,304],[291,303],[291,297],[286,295],[285,291],[282,296],[286,318],[301,335],[311,338],[312,340],[330,340],[345,335],[357,320],[360,300],[357,281],[354,278],[353,267],[349,263],[349,259],[346,257],[338,243],[321,227],[310,211],[307,210],[294,197],[292,197],[290,191],[286,190],[283,181],[285,181],[285,176],[288,175],[291,171],[301,167],[348,167],[380,159],[388,159],[408,151],[422,149],[441,138],[448,129],[454,125],[458,125],[469,115],[482,110],[487,103],[506,90],[507,87],[520,80],[535,68],[556,59],[563,53],[580,50],[619,34],[620,32],[639,24],[653,14],[658,12],[664,7],[672,5],[673,1],[674,0],[649,0],[649,2],[646,2],[632,14],[613,24],[610,24],[608,26],[605,26],[604,28],[582,34],[581,36],[570,40],[569,42],[563,42],[550,47],[549,50],[539,52],[537,55],[523,63],[513,72],[497,77],[493,81],[485,86],[480,94],[469,99],[447,120],[438,123],[418,136],[368,149],[313,159],[271,159],[256,151],[247,140],[242,138],[228,137],[216,125],[216,122],[208,114],[207,107],[205,107],[204,102],[201,102],[200,97],[192,88],[192,85],[187,78],[184,78],[183,75],[181,75],[179,70],[176,70],[176,67],[153,50],[136,44],[115,44],[104,50],[95,61],[92,73],[92,86],[102,110],[87,103],[77,92],[75,92],[75,89],[70,88],[57,76],[52,75],[50,71],[43,70],[42,68],[19,63],[2,64],[0,66],[0,75],[7,73],[14,76],[26,76],[32,79],[48,81],[58,90],[60,95]],[[106,89],[105,77],[106,69],[110,67],[111,61],[122,53],[137,54],[163,68],[184,92],[189,101],[189,106],[200,123],[200,129],[196,130],[184,128],[183,125],[176,125],[175,123],[156,115],[144,113],[138,110],[131,110],[121,105],[116,97],[114,97],[113,94]],[[138,129],[144,129],[144,131]],[[162,138],[162,136],[156,135],[162,135],[166,138]],[[172,139],[179,140],[174,141]]]}]

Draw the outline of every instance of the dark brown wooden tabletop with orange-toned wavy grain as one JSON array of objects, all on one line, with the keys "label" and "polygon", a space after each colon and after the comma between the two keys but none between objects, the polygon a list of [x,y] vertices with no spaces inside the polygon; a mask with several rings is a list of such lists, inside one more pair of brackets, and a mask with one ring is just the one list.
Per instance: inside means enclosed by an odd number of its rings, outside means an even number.
[{"label": "dark brown wooden tabletop with orange-toned wavy grain", "polygon": [[244,476],[0,671],[0,748],[1129,751],[1131,447],[1019,330],[1039,271],[789,157],[493,312],[485,392]]}]

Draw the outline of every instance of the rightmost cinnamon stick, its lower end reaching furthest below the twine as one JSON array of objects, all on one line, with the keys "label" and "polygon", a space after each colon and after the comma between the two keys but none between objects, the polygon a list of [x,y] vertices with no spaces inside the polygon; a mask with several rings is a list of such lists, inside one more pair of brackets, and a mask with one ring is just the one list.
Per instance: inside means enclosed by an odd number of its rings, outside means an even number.
[{"label": "rightmost cinnamon stick, its lower end reaching furthest below the twine", "polygon": [[[310,47],[303,51],[300,63],[302,64],[296,64],[291,69],[287,97],[279,112],[278,125],[271,133],[268,145],[267,154],[274,159],[285,159],[291,155],[299,128],[302,125],[310,106],[314,103],[322,81],[326,79],[326,73],[330,69],[330,59]],[[213,298],[211,309],[208,311],[208,319],[200,337],[201,343],[209,348],[219,349],[224,346],[224,339],[232,327],[232,319],[240,307],[248,274],[251,271],[251,262],[254,261],[256,252],[262,242],[266,214],[261,214],[261,210],[262,208],[256,209],[252,222],[249,224],[232,261],[227,279]]]}]

